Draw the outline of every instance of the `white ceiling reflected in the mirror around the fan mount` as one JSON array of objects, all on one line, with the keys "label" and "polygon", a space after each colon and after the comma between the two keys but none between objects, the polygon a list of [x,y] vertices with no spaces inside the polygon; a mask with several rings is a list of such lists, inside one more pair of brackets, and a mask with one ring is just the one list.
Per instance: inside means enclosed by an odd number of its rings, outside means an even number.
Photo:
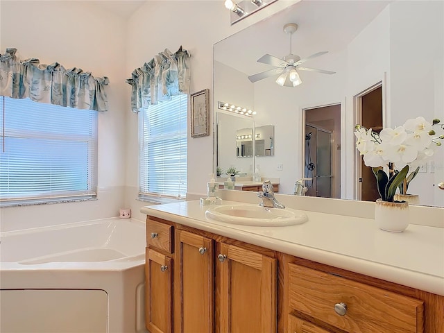
[{"label": "white ceiling reflected in the mirror around the fan mount", "polygon": [[291,53],[300,58],[318,51],[338,51],[391,2],[302,0],[217,43],[215,58],[247,75],[271,69],[256,60],[266,53],[280,59],[290,53],[290,35],[283,31],[287,23],[298,24],[298,30],[291,37]]}]

